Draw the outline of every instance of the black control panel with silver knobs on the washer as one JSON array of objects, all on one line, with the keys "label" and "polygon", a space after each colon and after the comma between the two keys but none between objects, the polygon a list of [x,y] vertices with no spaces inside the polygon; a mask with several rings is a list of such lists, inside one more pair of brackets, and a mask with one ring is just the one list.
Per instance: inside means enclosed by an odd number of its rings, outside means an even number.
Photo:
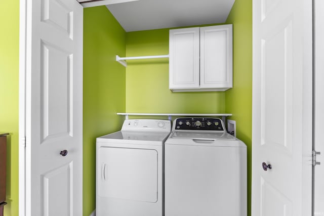
[{"label": "black control panel with silver knobs on the washer", "polygon": [[224,131],[222,120],[219,118],[177,118],[175,129],[182,130],[200,130],[200,131]]}]

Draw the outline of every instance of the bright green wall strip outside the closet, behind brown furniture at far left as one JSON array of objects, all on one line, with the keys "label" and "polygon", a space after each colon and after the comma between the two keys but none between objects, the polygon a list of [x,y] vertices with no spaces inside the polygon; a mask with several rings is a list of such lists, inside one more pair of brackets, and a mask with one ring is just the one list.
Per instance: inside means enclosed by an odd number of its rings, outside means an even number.
[{"label": "bright green wall strip outside the closet, behind brown furniture at far left", "polygon": [[0,7],[0,132],[8,132],[6,216],[18,215],[19,0]]}]

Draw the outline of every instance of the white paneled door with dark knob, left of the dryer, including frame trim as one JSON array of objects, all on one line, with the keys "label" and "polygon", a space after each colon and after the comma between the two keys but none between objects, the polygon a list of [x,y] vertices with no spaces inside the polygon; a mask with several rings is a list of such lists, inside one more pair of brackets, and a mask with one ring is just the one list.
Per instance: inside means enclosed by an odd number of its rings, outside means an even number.
[{"label": "white paneled door with dark knob, left of the dryer, including frame trim", "polygon": [[20,108],[25,112],[20,110],[20,118],[25,115],[26,147],[25,185],[20,184],[25,187],[20,188],[25,209],[20,207],[20,215],[79,216],[83,7],[76,0],[28,0],[21,6],[25,41],[20,63],[25,61],[25,69],[21,67],[20,81],[24,79],[25,89],[20,94],[25,95],[25,104]]}]

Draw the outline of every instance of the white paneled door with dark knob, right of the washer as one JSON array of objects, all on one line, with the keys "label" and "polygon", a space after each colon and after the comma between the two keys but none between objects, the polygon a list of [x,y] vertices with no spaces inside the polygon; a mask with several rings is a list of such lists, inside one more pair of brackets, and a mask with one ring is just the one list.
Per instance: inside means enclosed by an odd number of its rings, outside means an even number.
[{"label": "white paneled door with dark knob, right of the washer", "polygon": [[311,151],[312,1],[254,0],[252,216],[311,215]]}]

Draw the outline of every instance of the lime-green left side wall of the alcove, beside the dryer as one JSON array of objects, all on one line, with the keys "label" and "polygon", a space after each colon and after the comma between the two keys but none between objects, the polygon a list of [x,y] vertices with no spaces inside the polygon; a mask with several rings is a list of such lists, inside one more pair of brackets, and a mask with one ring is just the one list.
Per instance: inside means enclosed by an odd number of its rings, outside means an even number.
[{"label": "lime-green left side wall of the alcove, beside the dryer", "polygon": [[96,137],[118,131],[125,112],[126,33],[105,6],[84,10],[83,215],[95,209]]}]

